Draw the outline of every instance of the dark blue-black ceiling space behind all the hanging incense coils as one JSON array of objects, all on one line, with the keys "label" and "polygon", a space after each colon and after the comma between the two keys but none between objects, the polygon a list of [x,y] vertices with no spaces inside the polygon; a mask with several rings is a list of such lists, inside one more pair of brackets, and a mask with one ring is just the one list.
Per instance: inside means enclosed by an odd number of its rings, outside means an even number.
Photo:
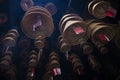
[{"label": "dark blue-black ceiling space behind all the hanging incense coils", "polygon": [[[39,65],[36,69],[36,77],[34,80],[41,80],[43,74],[45,73],[45,65],[48,62],[48,55],[51,51],[56,51],[59,54],[60,64],[62,68],[62,75],[56,77],[55,80],[115,80],[117,76],[120,76],[120,50],[115,46],[114,43],[110,42],[106,45],[109,48],[109,53],[106,55],[100,55],[100,53],[94,47],[93,54],[96,56],[98,61],[102,64],[103,69],[101,73],[97,73],[91,69],[88,63],[87,56],[82,54],[82,49],[79,45],[74,46],[70,52],[75,53],[80,56],[83,64],[85,65],[85,74],[83,76],[78,76],[72,71],[72,65],[69,61],[66,61],[63,53],[59,51],[58,37],[60,35],[58,23],[61,17],[66,13],[76,13],[81,16],[84,20],[94,18],[88,13],[87,5],[91,0],[71,0],[71,5],[68,7],[70,0],[33,0],[35,5],[44,6],[48,2],[53,2],[57,7],[57,13],[53,15],[54,21],[54,33],[51,37],[46,38],[46,46],[43,51],[43,56]],[[117,9],[117,15],[115,18],[106,17],[102,19],[106,23],[117,24],[120,20],[120,0],[107,0],[111,5]],[[25,13],[20,6],[21,0],[0,0],[0,13],[5,13],[8,17],[8,21],[5,24],[0,25],[0,56],[3,57],[3,36],[8,32],[8,30],[15,28],[18,30],[20,36],[18,38],[17,44],[13,51],[13,63],[17,67],[16,80],[26,80],[27,72],[27,62],[29,52],[31,50],[38,51],[34,45],[33,40],[27,38],[21,30],[21,19]],[[24,47],[20,47],[20,41],[22,39],[28,39],[30,41],[30,47],[26,52],[22,52]],[[28,42],[29,44],[29,42]],[[93,45],[91,43],[91,45]],[[27,53],[27,54],[26,54]],[[23,58],[25,57],[25,59]],[[23,62],[25,62],[23,64]],[[0,74],[1,75],[1,74]],[[0,76],[0,80],[5,80],[4,77]],[[119,79],[118,79],[119,80]]]}]

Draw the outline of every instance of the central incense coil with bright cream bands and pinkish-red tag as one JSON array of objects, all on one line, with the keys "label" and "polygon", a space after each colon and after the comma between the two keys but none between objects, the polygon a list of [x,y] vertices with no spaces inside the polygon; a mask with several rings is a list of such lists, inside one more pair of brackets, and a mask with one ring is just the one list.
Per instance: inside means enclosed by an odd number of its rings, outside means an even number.
[{"label": "central incense coil with bright cream bands and pinkish-red tag", "polygon": [[62,37],[70,45],[78,45],[81,39],[87,41],[85,22],[75,14],[66,14],[59,23]]}]

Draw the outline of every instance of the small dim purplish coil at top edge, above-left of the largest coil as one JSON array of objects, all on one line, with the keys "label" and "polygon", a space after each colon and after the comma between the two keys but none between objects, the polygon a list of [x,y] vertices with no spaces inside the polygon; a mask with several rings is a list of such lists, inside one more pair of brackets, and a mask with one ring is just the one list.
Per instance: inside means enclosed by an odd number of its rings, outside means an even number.
[{"label": "small dim purplish coil at top edge, above-left of the largest coil", "polygon": [[21,8],[24,11],[27,11],[30,7],[32,7],[34,5],[33,0],[21,0]]}]

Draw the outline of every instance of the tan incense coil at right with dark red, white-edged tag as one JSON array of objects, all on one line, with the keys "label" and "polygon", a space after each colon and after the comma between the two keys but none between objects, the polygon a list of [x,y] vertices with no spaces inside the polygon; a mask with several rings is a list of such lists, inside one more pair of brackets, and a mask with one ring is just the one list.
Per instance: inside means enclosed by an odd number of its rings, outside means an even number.
[{"label": "tan incense coil at right with dark red, white-edged tag", "polygon": [[115,35],[113,28],[103,22],[91,20],[88,22],[88,35],[94,44],[106,44],[111,41]]}]

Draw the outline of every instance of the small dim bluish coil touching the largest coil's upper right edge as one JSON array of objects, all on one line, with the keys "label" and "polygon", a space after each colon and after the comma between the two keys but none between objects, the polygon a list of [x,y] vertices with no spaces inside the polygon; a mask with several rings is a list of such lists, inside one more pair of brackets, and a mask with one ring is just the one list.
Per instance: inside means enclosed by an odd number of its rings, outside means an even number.
[{"label": "small dim bluish coil touching the largest coil's upper right edge", "polygon": [[52,14],[55,15],[57,13],[57,7],[55,4],[49,2],[45,5],[45,8]]}]

